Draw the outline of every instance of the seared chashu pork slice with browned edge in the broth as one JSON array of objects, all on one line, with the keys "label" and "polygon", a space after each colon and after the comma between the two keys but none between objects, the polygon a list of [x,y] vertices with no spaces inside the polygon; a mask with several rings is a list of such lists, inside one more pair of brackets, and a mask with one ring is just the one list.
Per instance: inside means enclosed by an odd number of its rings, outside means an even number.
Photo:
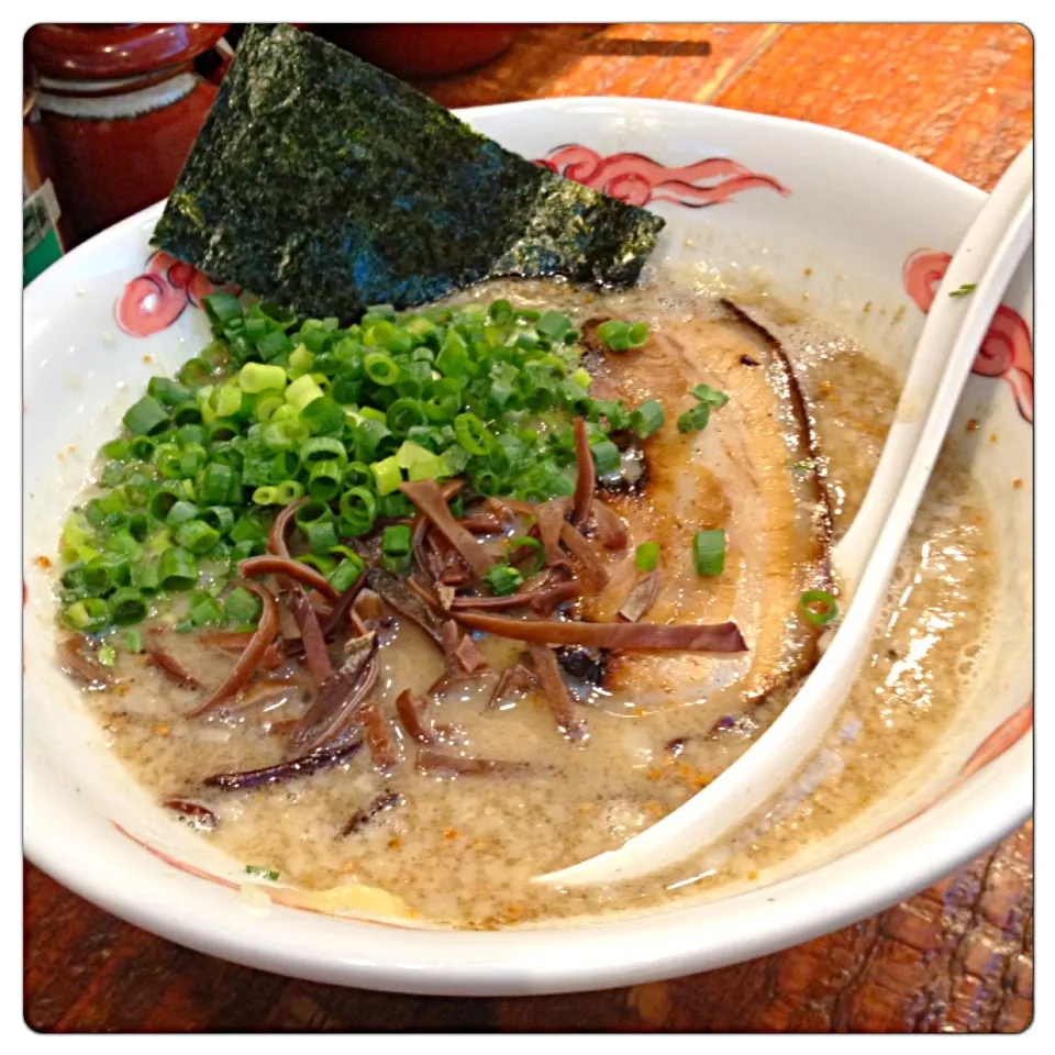
[{"label": "seared chashu pork slice with browned edge in the broth", "polygon": [[[657,399],[666,410],[666,423],[643,445],[643,486],[607,499],[626,521],[632,545],[653,540],[662,547],[663,588],[645,619],[733,620],[748,646],[734,657],[614,655],[604,688],[615,702],[646,711],[697,704],[717,718],[748,709],[815,663],[818,630],[799,601],[830,581],[829,510],[791,367],[775,338],[724,302],[719,315],[663,326],[632,352],[589,342],[590,329],[586,362],[595,388],[630,407]],[[712,409],[704,429],[682,435],[677,419],[696,406],[689,389],[699,384],[728,393],[729,402]],[[717,528],[726,533],[725,569],[700,576],[692,536]],[[612,579],[629,591],[634,577],[631,570]],[[582,614],[614,618],[618,595],[587,602]]]}]

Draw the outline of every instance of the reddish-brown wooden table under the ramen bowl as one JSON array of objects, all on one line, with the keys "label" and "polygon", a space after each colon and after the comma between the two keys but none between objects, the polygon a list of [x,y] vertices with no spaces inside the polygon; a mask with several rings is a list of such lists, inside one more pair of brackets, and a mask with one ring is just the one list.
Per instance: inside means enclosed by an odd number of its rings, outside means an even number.
[{"label": "reddish-brown wooden table under the ramen bowl", "polygon": [[[448,107],[544,96],[706,102],[846,129],[991,187],[1032,135],[1033,45],[1004,25],[551,25]],[[1033,1013],[1032,824],[945,881],[798,948],[566,997],[451,1000],[290,981],[123,923],[32,866],[25,1018],[46,1031],[1015,1032]]]}]

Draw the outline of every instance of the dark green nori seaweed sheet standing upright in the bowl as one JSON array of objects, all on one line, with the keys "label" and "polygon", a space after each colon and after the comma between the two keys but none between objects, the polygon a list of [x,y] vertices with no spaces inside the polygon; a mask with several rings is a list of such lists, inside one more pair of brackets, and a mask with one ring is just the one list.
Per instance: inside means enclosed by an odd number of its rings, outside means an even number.
[{"label": "dark green nori seaweed sheet standing upright in the bowl", "polygon": [[252,25],[153,243],[301,315],[499,276],[636,281],[663,220],[510,153],[290,25]]}]

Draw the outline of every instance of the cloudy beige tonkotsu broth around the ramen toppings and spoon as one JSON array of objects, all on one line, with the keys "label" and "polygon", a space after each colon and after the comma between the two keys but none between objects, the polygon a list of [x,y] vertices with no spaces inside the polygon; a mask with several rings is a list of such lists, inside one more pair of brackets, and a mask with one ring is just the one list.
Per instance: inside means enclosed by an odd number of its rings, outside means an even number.
[{"label": "cloudy beige tonkotsu broth around the ramen toppings and spoon", "polygon": [[[567,311],[576,322],[615,314],[660,331],[665,322],[712,311],[710,299],[671,277],[611,295],[554,284],[489,284],[462,300],[496,297]],[[890,370],[823,327],[801,323],[793,336],[788,351],[823,453],[837,537],[875,467],[898,384]],[[158,801],[186,797],[207,806],[220,823],[201,837],[243,864],[278,871],[284,884],[321,890],[358,881],[399,896],[423,920],[468,928],[641,909],[754,878],[846,824],[904,777],[953,720],[982,654],[995,562],[978,490],[946,454],[904,547],[873,656],[830,738],[840,765],[812,792],[792,795],[782,819],[731,842],[726,859],[695,881],[686,880],[699,867],[687,864],[604,890],[529,882],[619,846],[686,801],[757,740],[790,690],[770,695],[749,721],[715,734],[706,701],[645,712],[618,695],[595,695],[592,706],[578,708],[590,731],[581,748],[558,733],[536,696],[486,710],[493,682],[469,685],[430,709],[433,721],[457,726],[446,741],[449,749],[531,764],[524,771],[423,774],[413,768],[415,745],[390,722],[400,755],[390,776],[377,773],[363,749],[340,767],[251,791],[203,789],[201,780],[281,760],[285,740],[273,726],[303,712],[296,690],[263,710],[191,720],[184,715],[200,691],[177,688],[142,656],[124,654],[116,673],[125,685],[84,698],[112,748]],[[496,666],[521,648],[489,637],[480,646]],[[167,634],[166,647],[207,686],[232,665],[230,656],[196,646],[191,635]],[[388,717],[401,689],[423,692],[443,669],[413,625],[397,628],[380,659],[375,698]],[[667,747],[671,741],[680,742],[676,749]],[[356,811],[388,792],[399,793],[401,803],[342,835]]]}]

